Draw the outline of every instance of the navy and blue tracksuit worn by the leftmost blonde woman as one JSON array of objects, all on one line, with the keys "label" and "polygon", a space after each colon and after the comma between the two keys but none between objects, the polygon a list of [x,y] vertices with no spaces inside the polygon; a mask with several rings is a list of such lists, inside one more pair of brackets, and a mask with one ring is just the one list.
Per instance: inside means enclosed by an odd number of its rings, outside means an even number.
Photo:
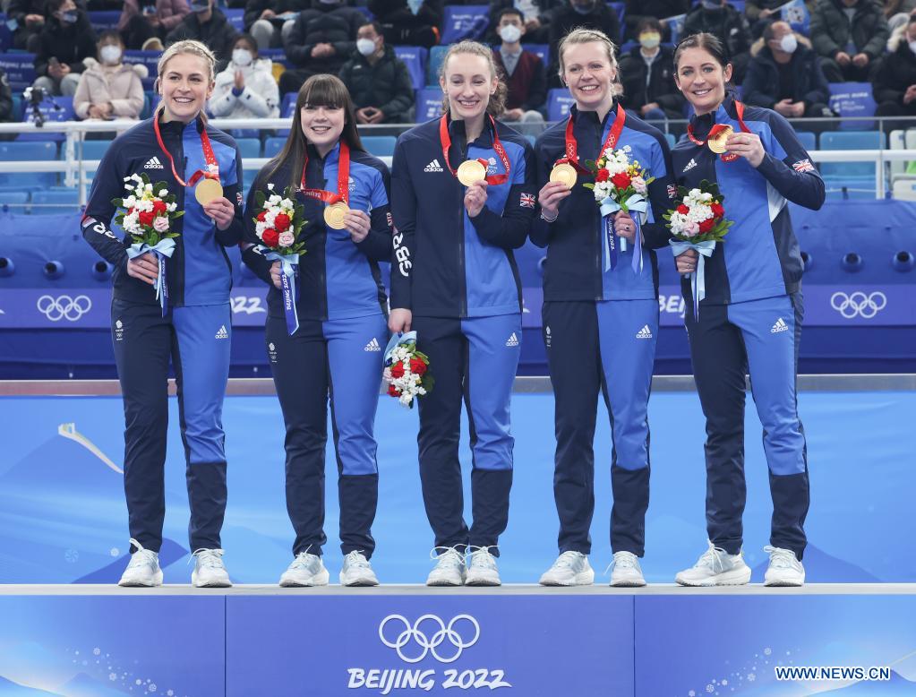
[{"label": "navy and blue tracksuit worn by the leftmost blonde woman", "polygon": [[[191,124],[160,124],[162,140],[187,181],[206,169],[201,131],[207,129],[220,170],[224,197],[236,204],[234,222],[224,231],[203,212],[192,189],[172,175],[159,148],[152,119],[114,140],[93,180],[83,237],[114,266],[112,333],[114,359],[124,394],[125,493],[130,534],[158,551],[165,515],[163,472],[169,405],[169,358],[178,385],[181,439],[187,461],[191,503],[191,550],[220,547],[226,505],[226,461],[222,424],[223,396],[229,376],[232,273],[224,247],[242,239],[242,159],[232,137],[201,119]],[[112,199],[125,195],[124,178],[146,173],[164,181],[185,214],[173,223],[180,233],[167,262],[169,307],[161,317],[156,291],[127,275],[129,239],[114,225]]]}]

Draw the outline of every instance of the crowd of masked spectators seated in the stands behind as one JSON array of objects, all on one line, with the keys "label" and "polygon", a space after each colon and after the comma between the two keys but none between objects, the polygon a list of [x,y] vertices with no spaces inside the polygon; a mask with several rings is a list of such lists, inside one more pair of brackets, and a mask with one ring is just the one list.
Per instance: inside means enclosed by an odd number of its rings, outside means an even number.
[{"label": "crowd of masked spectators seated in the stands behind", "polygon": [[[158,51],[195,38],[219,61],[214,115],[278,115],[283,94],[313,74],[333,73],[352,93],[361,124],[405,123],[415,118],[414,90],[393,47],[429,49],[441,43],[445,28],[444,0],[2,2],[12,48],[35,54],[35,84],[52,95],[73,95],[82,119],[141,113],[145,74],[125,63],[125,49]],[[217,5],[244,11],[245,33]],[[916,0],[806,0],[810,27],[804,33],[786,21],[784,5],[747,0],[739,11],[727,0],[490,0],[485,38],[507,82],[503,118],[544,120],[549,89],[562,86],[556,48],[573,27],[599,29],[625,46],[620,100],[647,119],[686,115],[672,75],[674,27],[681,37],[704,31],[722,39],[748,104],[788,118],[829,116],[830,82],[870,82],[878,115],[916,116]],[[97,37],[93,10],[120,12],[116,29]],[[547,64],[526,48],[530,44],[547,46]],[[259,55],[267,49],[282,49],[287,67]],[[0,120],[11,119],[12,111],[0,72]]]}]

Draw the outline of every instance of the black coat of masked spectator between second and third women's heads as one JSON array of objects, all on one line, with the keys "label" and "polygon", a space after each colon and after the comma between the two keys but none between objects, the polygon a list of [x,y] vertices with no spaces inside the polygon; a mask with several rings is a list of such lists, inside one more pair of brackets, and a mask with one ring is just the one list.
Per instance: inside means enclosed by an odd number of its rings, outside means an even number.
[{"label": "black coat of masked spectator between second and third women's heads", "polygon": [[385,47],[385,52],[369,63],[357,50],[341,68],[340,79],[344,81],[357,109],[376,106],[385,114],[389,124],[405,123],[413,105],[413,84],[404,61],[398,59],[395,50]]}]

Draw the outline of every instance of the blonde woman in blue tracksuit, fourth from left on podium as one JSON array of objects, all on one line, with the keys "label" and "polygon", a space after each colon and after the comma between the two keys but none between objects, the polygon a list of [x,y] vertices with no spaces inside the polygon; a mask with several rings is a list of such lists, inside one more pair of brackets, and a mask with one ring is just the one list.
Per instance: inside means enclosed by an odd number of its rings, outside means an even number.
[{"label": "blonde woman in blue tracksuit, fourth from left on podium", "polygon": [[[553,493],[560,515],[560,556],[540,583],[594,581],[587,555],[600,388],[613,433],[611,584],[639,586],[646,583],[638,558],[649,506],[647,407],[659,335],[659,274],[652,250],[668,243],[661,216],[673,192],[671,154],[658,129],[615,103],[617,63],[610,39],[593,29],[576,29],[563,38],[559,55],[560,75],[575,105],[569,120],[545,131],[535,146],[541,212],[531,233],[536,245],[548,248],[542,320],[556,398]],[[645,221],[616,212],[613,235],[593,192],[583,187],[594,181],[587,169],[579,169],[572,189],[548,181],[558,161],[581,168],[579,163],[597,159],[608,147],[623,149],[655,178],[648,187]],[[627,240],[626,251],[621,238]]]}]

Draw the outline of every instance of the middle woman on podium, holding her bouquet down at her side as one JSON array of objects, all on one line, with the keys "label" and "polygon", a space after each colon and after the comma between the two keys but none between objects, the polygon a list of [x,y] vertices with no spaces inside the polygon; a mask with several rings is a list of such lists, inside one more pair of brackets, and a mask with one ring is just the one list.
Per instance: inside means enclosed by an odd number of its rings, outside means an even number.
[{"label": "middle woman on podium, holding her bouquet down at her side", "polygon": [[[496,544],[512,485],[509,402],[521,344],[521,288],[513,249],[535,210],[535,171],[524,137],[489,114],[506,87],[493,53],[473,41],[449,49],[440,75],[442,119],[398,138],[391,195],[392,332],[418,332],[436,384],[420,398],[420,479],[440,552],[429,585],[498,585]],[[485,169],[468,180],[465,161]],[[461,403],[471,430],[474,520],[463,519],[458,461]],[[465,551],[469,550],[467,568]]]}]

